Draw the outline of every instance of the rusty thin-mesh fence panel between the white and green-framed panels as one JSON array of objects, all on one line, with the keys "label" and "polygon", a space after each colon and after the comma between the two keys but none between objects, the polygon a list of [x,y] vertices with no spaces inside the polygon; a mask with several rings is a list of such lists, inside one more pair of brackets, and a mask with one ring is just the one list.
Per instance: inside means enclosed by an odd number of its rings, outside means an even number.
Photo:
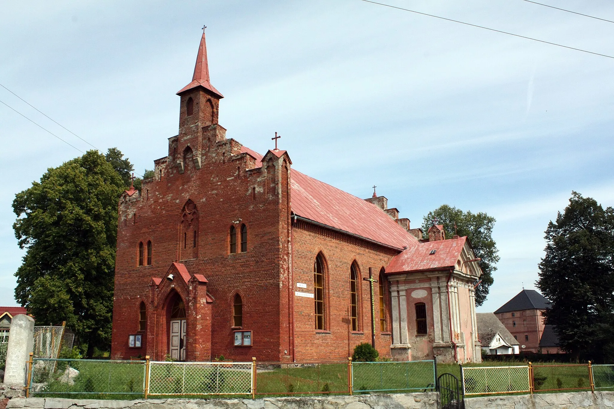
[{"label": "rusty thin-mesh fence panel between the white and green-framed panels", "polygon": [[349,364],[340,362],[258,362],[258,395],[349,394]]}]

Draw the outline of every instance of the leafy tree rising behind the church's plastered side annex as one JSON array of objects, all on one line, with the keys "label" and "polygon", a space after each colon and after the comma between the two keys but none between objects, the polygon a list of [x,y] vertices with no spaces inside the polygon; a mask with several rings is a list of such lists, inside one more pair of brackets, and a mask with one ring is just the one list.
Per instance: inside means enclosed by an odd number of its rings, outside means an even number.
[{"label": "leafy tree rising behind the church's plastered side annex", "polygon": [[478,261],[482,269],[482,276],[480,277],[482,282],[475,289],[475,304],[478,306],[484,304],[490,286],[494,281],[492,272],[497,270],[495,264],[499,261],[497,243],[492,240],[495,218],[483,212],[463,212],[456,207],[441,205],[424,216],[422,221],[424,234],[433,226],[433,218],[437,218],[437,224],[443,224],[447,239],[454,235],[454,224],[456,223],[457,234],[461,237],[466,235],[473,247],[473,253],[476,257],[482,259]]}]

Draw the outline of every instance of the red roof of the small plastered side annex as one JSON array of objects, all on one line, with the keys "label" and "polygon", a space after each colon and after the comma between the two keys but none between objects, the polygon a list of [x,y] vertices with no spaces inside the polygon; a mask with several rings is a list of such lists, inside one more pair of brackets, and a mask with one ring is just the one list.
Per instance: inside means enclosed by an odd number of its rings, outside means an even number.
[{"label": "red roof of the small plastered side annex", "polygon": [[[397,254],[386,267],[386,273],[443,269],[454,267],[461,255],[467,236],[458,239],[421,243]],[[436,250],[435,254],[430,254]]]}]

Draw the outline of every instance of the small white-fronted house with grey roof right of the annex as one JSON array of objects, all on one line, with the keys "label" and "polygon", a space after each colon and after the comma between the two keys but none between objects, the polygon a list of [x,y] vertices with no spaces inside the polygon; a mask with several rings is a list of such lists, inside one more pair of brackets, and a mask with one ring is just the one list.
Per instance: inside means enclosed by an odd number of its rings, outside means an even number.
[{"label": "small white-fronted house with grey roof right of the annex", "polygon": [[476,313],[478,338],[489,355],[518,354],[519,342],[494,313]]}]

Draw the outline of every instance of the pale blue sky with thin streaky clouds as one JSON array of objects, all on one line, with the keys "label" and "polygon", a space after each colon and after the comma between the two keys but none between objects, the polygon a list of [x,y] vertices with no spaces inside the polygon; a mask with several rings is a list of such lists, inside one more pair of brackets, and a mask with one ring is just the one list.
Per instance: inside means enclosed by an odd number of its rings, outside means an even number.
[{"label": "pale blue sky with thin streaky clouds", "polygon": [[[614,21],[607,0],[543,0]],[[614,56],[614,23],[523,0],[386,0]],[[572,191],[614,205],[614,58],[360,0],[0,0],[0,87],[81,151],[117,147],[142,174],[177,134],[206,25],[219,123],[260,153],[412,227],[441,204],[494,216],[500,261],[478,312],[535,289],[548,221]],[[17,305],[15,194],[81,153],[0,104],[0,305]]]}]

